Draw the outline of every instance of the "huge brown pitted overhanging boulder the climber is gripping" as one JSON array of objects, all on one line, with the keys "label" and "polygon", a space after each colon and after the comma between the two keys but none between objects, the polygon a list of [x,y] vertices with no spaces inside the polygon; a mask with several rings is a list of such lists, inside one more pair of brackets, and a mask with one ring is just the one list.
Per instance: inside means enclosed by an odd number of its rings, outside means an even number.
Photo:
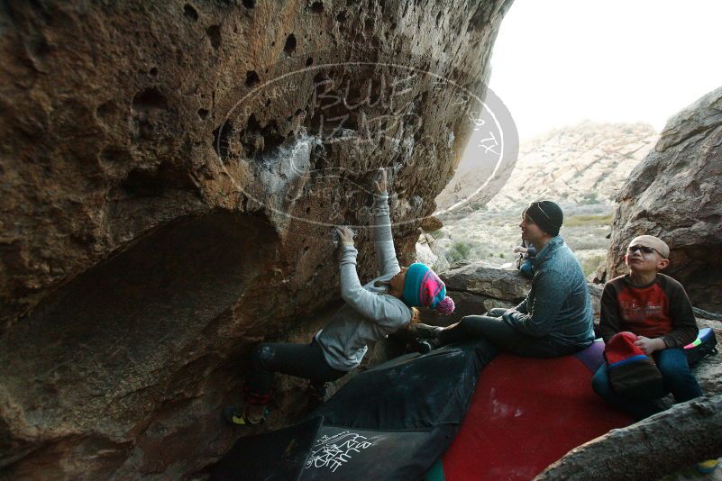
[{"label": "huge brown pitted overhanging boulder the climber is gripping", "polygon": [[374,274],[379,167],[413,257],[472,128],[443,81],[483,95],[509,5],[6,5],[0,468],[175,479],[224,453],[251,342],[334,308],[331,222]]}]

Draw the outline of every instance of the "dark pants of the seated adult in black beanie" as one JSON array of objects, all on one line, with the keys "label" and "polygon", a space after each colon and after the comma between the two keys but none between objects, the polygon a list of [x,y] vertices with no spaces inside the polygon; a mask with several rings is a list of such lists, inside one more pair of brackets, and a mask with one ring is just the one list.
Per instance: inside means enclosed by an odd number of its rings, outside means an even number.
[{"label": "dark pants of the seated adult in black beanie", "polygon": [[491,309],[484,315],[463,317],[460,322],[444,328],[439,333],[439,342],[445,345],[459,340],[489,340],[499,349],[527,358],[556,358],[583,349],[547,337],[536,338],[516,331],[511,324],[501,318],[506,311],[497,308]]}]

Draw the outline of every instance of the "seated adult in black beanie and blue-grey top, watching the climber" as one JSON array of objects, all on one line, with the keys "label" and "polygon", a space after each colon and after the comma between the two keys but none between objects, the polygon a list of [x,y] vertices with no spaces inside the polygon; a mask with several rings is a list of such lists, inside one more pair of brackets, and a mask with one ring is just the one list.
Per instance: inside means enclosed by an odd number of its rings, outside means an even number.
[{"label": "seated adult in black beanie and blue-grey top, watching the climber", "polygon": [[579,261],[559,230],[564,214],[552,201],[529,204],[519,227],[536,248],[535,276],[526,299],[513,309],[469,315],[447,328],[416,324],[419,337],[436,345],[478,338],[519,356],[553,358],[584,349],[594,341],[591,297]]}]

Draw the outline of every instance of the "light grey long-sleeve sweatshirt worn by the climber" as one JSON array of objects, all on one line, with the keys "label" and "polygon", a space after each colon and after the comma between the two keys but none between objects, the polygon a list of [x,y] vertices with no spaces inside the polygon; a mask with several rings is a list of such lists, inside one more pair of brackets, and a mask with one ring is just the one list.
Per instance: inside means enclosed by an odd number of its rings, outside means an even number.
[{"label": "light grey long-sleeve sweatshirt worn by the climber", "polygon": [[356,272],[358,250],[341,246],[341,297],[346,304],[315,335],[328,365],[342,371],[359,366],[369,342],[387,337],[411,320],[411,309],[398,297],[388,294],[388,286],[374,286],[376,281],[387,281],[401,270],[391,236],[386,192],[374,195],[373,217],[374,245],[381,275],[361,286]]}]

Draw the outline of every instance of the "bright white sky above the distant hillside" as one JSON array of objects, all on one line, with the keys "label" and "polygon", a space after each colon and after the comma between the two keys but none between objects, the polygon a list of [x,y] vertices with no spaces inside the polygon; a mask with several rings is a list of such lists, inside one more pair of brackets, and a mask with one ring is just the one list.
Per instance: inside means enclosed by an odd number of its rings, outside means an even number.
[{"label": "bright white sky above the distant hillside", "polygon": [[489,81],[521,140],[584,119],[659,131],[718,86],[718,0],[515,0]]}]

